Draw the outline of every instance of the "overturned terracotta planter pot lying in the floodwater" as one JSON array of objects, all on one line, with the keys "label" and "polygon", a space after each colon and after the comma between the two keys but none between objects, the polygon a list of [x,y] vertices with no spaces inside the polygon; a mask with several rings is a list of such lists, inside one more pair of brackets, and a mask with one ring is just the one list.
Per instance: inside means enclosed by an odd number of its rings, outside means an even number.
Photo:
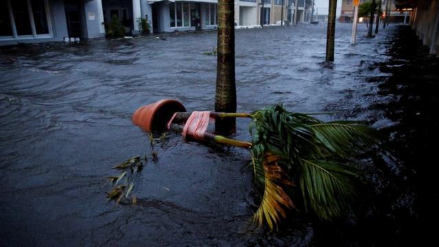
[{"label": "overturned terracotta planter pot lying in the floodwater", "polygon": [[163,130],[174,113],[185,111],[185,106],[176,99],[161,99],[137,109],[132,115],[132,122],[147,132]]}]

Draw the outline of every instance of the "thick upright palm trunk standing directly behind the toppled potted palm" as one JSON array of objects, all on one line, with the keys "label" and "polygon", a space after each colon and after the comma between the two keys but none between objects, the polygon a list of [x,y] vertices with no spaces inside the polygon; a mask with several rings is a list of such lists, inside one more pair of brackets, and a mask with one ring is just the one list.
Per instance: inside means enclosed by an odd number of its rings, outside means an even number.
[{"label": "thick upright palm trunk standing directly behind the toppled potted palm", "polygon": [[[234,0],[218,1],[217,84],[215,111],[236,113],[235,86],[235,5]],[[235,130],[235,118],[217,118],[215,130]]]}]

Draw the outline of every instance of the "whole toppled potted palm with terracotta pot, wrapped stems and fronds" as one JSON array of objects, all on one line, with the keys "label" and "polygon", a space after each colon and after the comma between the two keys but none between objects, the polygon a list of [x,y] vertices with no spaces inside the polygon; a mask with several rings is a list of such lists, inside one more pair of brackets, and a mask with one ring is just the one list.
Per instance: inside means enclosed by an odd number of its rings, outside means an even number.
[{"label": "whole toppled potted palm with terracotta pot, wrapped stems and fronds", "polygon": [[[292,209],[322,220],[340,217],[357,195],[359,169],[351,159],[374,145],[376,131],[357,121],[323,122],[311,115],[272,106],[248,113],[185,113],[180,102],[163,99],[134,113],[144,130],[167,128],[198,141],[248,148],[255,181],[263,187],[254,222],[271,230]],[[237,141],[206,131],[210,118],[250,117],[252,142]],[[181,125],[184,124],[184,127]]]}]

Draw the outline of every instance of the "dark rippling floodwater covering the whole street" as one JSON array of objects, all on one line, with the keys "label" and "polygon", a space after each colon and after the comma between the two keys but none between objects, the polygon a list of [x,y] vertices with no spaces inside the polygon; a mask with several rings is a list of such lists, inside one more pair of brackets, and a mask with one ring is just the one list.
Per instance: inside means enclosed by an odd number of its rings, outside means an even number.
[{"label": "dark rippling floodwater covering the whole street", "polygon": [[[368,185],[332,223],[294,215],[278,233],[249,231],[257,198],[250,155],[186,143],[168,133],[150,146],[131,122],[145,104],[175,98],[213,110],[215,32],[80,44],[0,48],[0,239],[6,246],[370,246],[416,242],[437,207],[427,163],[438,137],[438,59],[409,27],[391,25],[349,44],[337,24],[335,62],[326,26],[236,31],[237,108],[283,104],[324,120],[357,119],[386,141],[361,159]],[[437,118],[436,118],[437,119]],[[248,139],[248,120],[237,121]],[[158,160],[152,161],[153,151]],[[112,166],[149,158],[135,178],[136,206],[106,202]],[[430,189],[427,189],[429,188]],[[421,193],[421,191],[423,191]],[[424,196],[425,195],[425,196]]]}]

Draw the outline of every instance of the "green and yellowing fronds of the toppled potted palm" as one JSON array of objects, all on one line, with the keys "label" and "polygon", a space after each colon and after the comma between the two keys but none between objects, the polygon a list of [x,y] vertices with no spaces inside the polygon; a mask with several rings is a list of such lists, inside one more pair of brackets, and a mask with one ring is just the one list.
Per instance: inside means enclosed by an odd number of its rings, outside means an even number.
[{"label": "green and yellowing fronds of the toppled potted palm", "polygon": [[[289,198],[323,220],[345,213],[359,176],[350,160],[359,150],[370,148],[377,137],[374,129],[359,122],[325,123],[280,105],[252,113],[250,134],[254,174],[264,187],[254,221],[267,222],[271,229],[285,217],[284,208],[294,207]],[[271,167],[279,172],[269,172]],[[284,178],[298,186],[282,183]]]}]

